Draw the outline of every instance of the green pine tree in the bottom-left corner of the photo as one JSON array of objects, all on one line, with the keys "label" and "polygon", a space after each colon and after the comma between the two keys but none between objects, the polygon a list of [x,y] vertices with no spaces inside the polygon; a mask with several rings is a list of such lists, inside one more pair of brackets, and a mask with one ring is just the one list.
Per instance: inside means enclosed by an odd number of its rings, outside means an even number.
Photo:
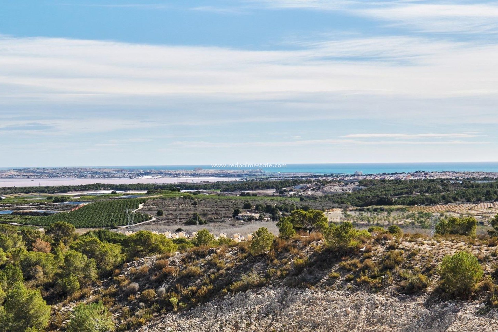
[{"label": "green pine tree in the bottom-left corner of the photo", "polygon": [[6,330],[9,332],[43,330],[50,318],[50,306],[47,306],[40,291],[26,289],[22,283],[16,283],[6,293],[3,309],[6,321],[2,323],[8,327]]}]

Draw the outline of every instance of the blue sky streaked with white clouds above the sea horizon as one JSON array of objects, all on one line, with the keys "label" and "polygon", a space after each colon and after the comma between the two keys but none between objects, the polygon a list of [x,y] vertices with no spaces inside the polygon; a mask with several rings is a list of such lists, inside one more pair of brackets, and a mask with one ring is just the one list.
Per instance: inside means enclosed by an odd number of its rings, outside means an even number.
[{"label": "blue sky streaked with white clouds above the sea horizon", "polygon": [[498,2],[0,5],[0,167],[498,161]]}]

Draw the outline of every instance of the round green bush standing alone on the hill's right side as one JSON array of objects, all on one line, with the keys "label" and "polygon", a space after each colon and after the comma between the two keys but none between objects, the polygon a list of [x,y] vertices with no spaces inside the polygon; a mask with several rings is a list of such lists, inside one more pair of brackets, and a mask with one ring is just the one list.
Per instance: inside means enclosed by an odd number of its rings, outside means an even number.
[{"label": "round green bush standing alone on the hill's right side", "polygon": [[443,288],[456,297],[471,294],[483,273],[476,256],[466,251],[445,256],[439,267]]}]

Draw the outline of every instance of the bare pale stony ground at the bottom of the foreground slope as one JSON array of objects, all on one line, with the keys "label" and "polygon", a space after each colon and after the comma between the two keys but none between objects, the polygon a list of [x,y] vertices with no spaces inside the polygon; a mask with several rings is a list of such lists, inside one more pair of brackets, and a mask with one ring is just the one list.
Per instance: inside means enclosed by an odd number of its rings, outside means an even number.
[{"label": "bare pale stony ground at the bottom of the foreground slope", "polygon": [[138,331],[496,331],[498,311],[479,301],[264,287],[169,313]]}]

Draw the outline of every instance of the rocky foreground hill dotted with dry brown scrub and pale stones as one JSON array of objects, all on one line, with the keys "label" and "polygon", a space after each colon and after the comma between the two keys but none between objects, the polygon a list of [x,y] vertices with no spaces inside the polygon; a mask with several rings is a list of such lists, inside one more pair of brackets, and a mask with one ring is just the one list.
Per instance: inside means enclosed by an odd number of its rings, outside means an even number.
[{"label": "rocky foreground hill dotted with dry brown scrub and pale stones", "polygon": [[[462,250],[485,273],[455,298],[438,267]],[[489,239],[388,233],[341,256],[312,234],[259,256],[242,243],[145,257],[89,300],[113,296],[122,331],[496,331],[496,257]]]}]

